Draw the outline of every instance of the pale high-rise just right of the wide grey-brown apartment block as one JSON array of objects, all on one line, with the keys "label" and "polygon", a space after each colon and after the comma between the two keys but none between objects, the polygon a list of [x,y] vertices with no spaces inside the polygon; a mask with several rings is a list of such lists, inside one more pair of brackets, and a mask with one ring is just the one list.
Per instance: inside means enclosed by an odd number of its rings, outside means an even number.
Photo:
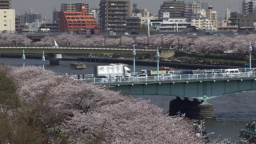
[{"label": "pale high-rise just right of the wide grey-brown apartment block", "polygon": [[186,3],[186,19],[187,22],[192,22],[192,18],[199,14],[201,9],[200,2],[189,2]]}]

